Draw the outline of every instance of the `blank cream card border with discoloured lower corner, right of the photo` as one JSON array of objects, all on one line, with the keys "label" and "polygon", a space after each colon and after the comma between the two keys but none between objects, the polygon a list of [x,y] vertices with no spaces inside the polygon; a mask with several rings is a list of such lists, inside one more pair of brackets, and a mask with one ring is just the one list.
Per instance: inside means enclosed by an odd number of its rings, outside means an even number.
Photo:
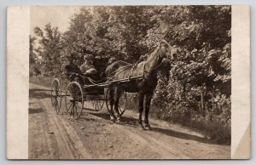
[{"label": "blank cream card border with discoloured lower corner, right of the photo", "polygon": [[231,158],[250,158],[250,7],[232,5]]}]

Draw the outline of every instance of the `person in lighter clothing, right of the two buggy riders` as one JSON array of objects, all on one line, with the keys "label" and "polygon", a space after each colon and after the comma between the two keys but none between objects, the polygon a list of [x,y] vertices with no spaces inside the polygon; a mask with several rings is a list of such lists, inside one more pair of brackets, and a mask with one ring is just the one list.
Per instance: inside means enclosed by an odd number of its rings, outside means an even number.
[{"label": "person in lighter clothing, right of the two buggy riders", "polygon": [[92,54],[84,55],[84,64],[80,66],[80,71],[85,76],[96,74],[97,71],[93,65],[93,55]]}]

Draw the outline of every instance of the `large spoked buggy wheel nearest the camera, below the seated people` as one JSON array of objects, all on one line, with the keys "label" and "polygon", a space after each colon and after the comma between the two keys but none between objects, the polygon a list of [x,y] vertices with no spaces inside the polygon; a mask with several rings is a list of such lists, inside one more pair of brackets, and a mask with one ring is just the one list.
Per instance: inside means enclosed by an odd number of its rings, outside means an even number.
[{"label": "large spoked buggy wheel nearest the camera, below the seated people", "polygon": [[78,119],[81,116],[84,107],[84,94],[79,83],[72,82],[67,86],[65,105],[67,113],[71,117]]}]

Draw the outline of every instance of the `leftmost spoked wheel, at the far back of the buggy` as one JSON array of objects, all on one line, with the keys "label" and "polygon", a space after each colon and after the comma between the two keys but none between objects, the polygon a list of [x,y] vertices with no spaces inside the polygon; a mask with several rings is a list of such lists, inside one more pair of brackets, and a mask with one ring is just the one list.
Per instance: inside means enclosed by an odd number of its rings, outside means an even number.
[{"label": "leftmost spoked wheel, at the far back of the buggy", "polygon": [[61,83],[58,78],[51,83],[50,94],[51,105],[55,113],[58,114],[61,110]]}]

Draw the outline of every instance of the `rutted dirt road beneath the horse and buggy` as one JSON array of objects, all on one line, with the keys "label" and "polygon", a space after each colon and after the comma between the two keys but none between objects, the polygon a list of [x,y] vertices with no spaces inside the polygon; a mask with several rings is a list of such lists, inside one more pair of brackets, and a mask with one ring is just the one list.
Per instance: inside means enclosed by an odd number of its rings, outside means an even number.
[{"label": "rutted dirt road beneath the horse and buggy", "polygon": [[[86,107],[91,103],[85,102]],[[64,104],[61,108],[65,111]],[[121,123],[102,111],[84,110],[79,120],[56,115],[48,88],[30,84],[30,159],[228,159],[230,145],[218,145],[201,134],[151,119],[153,130],[137,125],[137,113],[125,111]]]}]

